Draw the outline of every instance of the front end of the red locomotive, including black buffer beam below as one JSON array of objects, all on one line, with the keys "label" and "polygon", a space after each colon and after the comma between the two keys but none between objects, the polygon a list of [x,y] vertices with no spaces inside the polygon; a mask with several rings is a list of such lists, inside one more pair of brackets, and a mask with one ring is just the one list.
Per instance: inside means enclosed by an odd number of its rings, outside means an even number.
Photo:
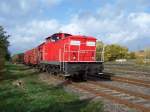
[{"label": "front end of the red locomotive, including black buffer beam below", "polygon": [[62,68],[66,76],[86,79],[88,75],[102,75],[103,61],[96,61],[94,37],[68,37],[62,54]]}]

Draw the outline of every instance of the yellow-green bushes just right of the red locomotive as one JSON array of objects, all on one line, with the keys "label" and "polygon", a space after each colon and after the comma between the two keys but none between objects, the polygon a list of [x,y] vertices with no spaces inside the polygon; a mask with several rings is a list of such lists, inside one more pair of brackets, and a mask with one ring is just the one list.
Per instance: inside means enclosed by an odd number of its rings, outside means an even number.
[{"label": "yellow-green bushes just right of the red locomotive", "polygon": [[114,61],[116,59],[135,59],[135,53],[129,52],[127,47],[120,46],[117,44],[104,45],[103,42],[98,41],[96,44],[96,59],[101,60],[102,53],[104,50],[104,60]]}]

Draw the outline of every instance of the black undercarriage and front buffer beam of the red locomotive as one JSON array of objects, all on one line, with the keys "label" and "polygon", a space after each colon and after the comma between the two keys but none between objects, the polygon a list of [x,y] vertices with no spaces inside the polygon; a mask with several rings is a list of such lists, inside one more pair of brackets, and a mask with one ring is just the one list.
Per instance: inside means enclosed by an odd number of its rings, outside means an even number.
[{"label": "black undercarriage and front buffer beam of the red locomotive", "polygon": [[102,75],[103,62],[42,62],[37,68],[65,78],[86,80],[88,75]]}]

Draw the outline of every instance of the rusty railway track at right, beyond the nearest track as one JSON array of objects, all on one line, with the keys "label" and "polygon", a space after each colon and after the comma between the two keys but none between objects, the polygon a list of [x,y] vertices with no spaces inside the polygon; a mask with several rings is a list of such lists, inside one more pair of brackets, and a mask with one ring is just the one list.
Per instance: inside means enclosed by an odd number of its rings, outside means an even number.
[{"label": "rusty railway track at right, beyond the nearest track", "polygon": [[148,81],[143,81],[143,80],[138,80],[138,79],[131,79],[131,78],[120,77],[120,76],[112,76],[112,77],[110,77],[110,79],[112,81],[130,83],[130,84],[134,84],[134,85],[137,85],[137,86],[143,86],[143,87],[150,88],[150,83]]}]

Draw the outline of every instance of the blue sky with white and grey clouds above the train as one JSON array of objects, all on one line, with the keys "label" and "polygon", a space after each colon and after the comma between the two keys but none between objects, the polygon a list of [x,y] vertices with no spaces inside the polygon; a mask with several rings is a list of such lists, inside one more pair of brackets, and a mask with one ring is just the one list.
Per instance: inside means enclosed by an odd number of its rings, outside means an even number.
[{"label": "blue sky with white and grey clouds above the train", "polygon": [[0,0],[0,25],[11,35],[12,53],[60,31],[137,50],[150,46],[150,1]]}]

